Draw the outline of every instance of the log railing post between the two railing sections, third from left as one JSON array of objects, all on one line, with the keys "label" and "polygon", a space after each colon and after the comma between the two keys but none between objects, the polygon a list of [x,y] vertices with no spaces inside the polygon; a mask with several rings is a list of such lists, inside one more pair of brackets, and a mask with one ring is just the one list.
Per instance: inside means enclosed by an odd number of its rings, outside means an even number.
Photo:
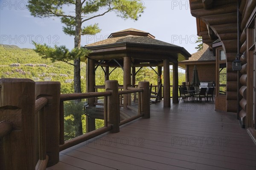
[{"label": "log railing post between the two railing sections, third from left", "polygon": [[106,91],[111,91],[112,94],[108,96],[108,123],[112,124],[111,133],[119,132],[119,95],[118,95],[118,81],[108,80],[105,82]]}]

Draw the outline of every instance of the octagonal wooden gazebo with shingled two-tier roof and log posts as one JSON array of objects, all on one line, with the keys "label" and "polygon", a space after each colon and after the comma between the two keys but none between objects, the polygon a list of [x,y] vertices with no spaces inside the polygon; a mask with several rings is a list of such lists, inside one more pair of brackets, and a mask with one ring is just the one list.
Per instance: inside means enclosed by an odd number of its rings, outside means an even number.
[{"label": "octagonal wooden gazebo with shingled two-tier roof and log posts", "polygon": [[[104,68],[105,81],[109,78],[109,67],[121,67],[124,89],[135,85],[135,69],[144,66],[157,66],[159,86],[163,67],[163,106],[170,107],[169,66],[172,64],[172,101],[178,103],[178,62],[191,56],[183,47],[156,40],[150,33],[133,28],[114,32],[107,39],[84,47],[91,51],[88,56],[87,92],[95,92],[95,70],[98,66]],[[128,105],[128,96],[124,96],[123,104]]]}]

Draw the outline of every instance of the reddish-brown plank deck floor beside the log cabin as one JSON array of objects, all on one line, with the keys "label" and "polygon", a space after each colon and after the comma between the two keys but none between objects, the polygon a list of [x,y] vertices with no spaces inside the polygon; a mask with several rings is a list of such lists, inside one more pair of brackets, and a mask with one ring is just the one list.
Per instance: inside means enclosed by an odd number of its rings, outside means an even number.
[{"label": "reddish-brown plank deck floor beside the log cabin", "polygon": [[256,144],[236,115],[212,103],[151,104],[138,119],[60,153],[48,170],[256,170]]}]

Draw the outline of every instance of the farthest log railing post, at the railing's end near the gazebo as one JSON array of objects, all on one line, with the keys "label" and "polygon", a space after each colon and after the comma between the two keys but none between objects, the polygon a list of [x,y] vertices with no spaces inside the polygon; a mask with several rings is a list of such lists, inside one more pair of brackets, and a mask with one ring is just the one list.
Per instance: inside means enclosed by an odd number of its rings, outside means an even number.
[{"label": "farthest log railing post, at the railing's end near the gazebo", "polygon": [[141,111],[144,113],[144,116],[142,118],[150,118],[149,82],[140,81],[138,87],[143,88],[143,92],[141,92]]}]

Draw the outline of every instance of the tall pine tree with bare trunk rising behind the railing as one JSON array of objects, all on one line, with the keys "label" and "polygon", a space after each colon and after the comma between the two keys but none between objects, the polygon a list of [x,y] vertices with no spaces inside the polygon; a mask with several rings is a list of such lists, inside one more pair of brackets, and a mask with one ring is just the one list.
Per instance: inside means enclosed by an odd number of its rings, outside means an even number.
[{"label": "tall pine tree with bare trunk rising behind the railing", "polygon": [[[73,6],[72,12],[67,14],[62,10],[66,6]],[[74,92],[81,92],[81,58],[88,54],[81,48],[81,35],[95,35],[100,32],[98,24],[82,27],[83,23],[95,17],[100,17],[108,12],[116,12],[117,16],[124,19],[131,18],[137,20],[145,7],[140,0],[29,0],[28,9],[34,17],[60,17],[63,32],[74,36],[74,49],[69,52],[65,46],[55,46],[51,48],[46,44],[35,43],[36,51],[45,58],[52,58],[52,61],[64,61],[74,66]],[[103,9],[103,10],[102,10]],[[70,61],[73,60],[73,63]],[[77,101],[79,102],[79,101]],[[81,116],[75,121],[81,125]],[[77,118],[77,120],[76,120]],[[81,127],[77,135],[82,135]]]}]

